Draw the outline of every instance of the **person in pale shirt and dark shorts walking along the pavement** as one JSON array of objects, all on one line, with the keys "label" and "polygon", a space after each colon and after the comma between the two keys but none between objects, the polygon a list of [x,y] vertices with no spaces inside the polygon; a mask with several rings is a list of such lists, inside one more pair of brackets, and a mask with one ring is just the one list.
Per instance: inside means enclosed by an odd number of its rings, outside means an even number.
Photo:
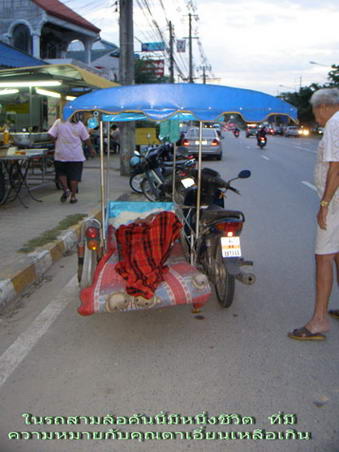
[{"label": "person in pale shirt and dark shorts walking along the pavement", "polygon": [[86,160],[82,142],[87,144],[91,155],[96,155],[89,133],[75,114],[70,120],[57,119],[48,134],[55,141],[55,173],[63,189],[60,201],[66,202],[70,197],[70,203],[74,204],[78,201],[76,193],[81,181],[83,162]]}]

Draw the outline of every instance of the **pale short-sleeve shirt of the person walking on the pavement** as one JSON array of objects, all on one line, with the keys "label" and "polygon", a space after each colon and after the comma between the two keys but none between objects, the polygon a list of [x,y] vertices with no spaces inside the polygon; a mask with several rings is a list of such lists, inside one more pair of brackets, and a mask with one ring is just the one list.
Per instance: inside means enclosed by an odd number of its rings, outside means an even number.
[{"label": "pale short-sleeve shirt of the person walking on the pavement", "polygon": [[54,160],[59,162],[83,162],[86,160],[82,142],[89,138],[84,124],[57,119],[48,133],[56,138]]}]

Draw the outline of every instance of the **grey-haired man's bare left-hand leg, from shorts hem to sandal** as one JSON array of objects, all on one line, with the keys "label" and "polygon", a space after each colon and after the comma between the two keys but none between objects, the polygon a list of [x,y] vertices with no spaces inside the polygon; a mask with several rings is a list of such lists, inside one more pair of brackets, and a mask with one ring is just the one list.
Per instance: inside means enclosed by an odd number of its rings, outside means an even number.
[{"label": "grey-haired man's bare left-hand leg, from shorts hem to sandal", "polygon": [[316,299],[311,320],[305,325],[311,333],[326,332],[330,329],[327,314],[328,302],[333,285],[333,261],[335,254],[316,255]]}]

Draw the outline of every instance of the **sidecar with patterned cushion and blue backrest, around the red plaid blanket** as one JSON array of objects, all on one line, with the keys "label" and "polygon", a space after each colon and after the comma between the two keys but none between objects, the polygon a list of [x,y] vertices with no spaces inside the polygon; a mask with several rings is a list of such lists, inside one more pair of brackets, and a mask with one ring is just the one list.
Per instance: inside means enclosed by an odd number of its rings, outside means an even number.
[{"label": "sidecar with patterned cushion and blue backrest, around the red plaid blanket", "polygon": [[[97,252],[98,248],[88,248],[90,241],[94,240],[99,222],[88,220],[80,238],[80,247],[83,250],[80,263],[83,265],[80,265],[79,271],[82,287],[79,314],[163,308],[182,304],[192,304],[194,312],[197,312],[207,302],[211,294],[208,279],[186,261],[179,240],[176,240],[170,249],[166,267],[162,272],[163,281],[156,287],[153,296],[133,296],[133,287],[131,289],[128,285],[131,281],[126,281],[117,271],[123,251],[117,240],[119,227],[141,223],[150,214],[154,214],[154,218],[157,215],[164,216],[165,212],[171,212],[173,215],[174,204],[109,201],[105,225],[107,246],[101,257]],[[128,233],[124,237],[128,238]],[[154,240],[154,237],[150,236],[150,240]],[[135,247],[131,249],[136,251]],[[88,287],[84,287],[86,285]]]}]

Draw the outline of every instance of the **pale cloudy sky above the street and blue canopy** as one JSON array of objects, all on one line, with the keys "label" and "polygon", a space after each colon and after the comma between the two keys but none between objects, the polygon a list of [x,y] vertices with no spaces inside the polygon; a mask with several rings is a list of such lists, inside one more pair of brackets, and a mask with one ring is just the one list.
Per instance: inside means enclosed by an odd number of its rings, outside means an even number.
[{"label": "pale cloudy sky above the street and blue canopy", "polygon": [[[98,26],[102,39],[119,45],[115,0],[63,3]],[[339,0],[134,0],[133,5],[136,52],[141,42],[161,40],[155,22],[166,39],[167,20],[177,39],[186,38],[188,13],[194,15],[196,83],[202,83],[199,67],[210,65],[207,83],[277,95],[325,83],[330,66],[339,64]],[[175,58],[187,76],[188,51]]]}]

